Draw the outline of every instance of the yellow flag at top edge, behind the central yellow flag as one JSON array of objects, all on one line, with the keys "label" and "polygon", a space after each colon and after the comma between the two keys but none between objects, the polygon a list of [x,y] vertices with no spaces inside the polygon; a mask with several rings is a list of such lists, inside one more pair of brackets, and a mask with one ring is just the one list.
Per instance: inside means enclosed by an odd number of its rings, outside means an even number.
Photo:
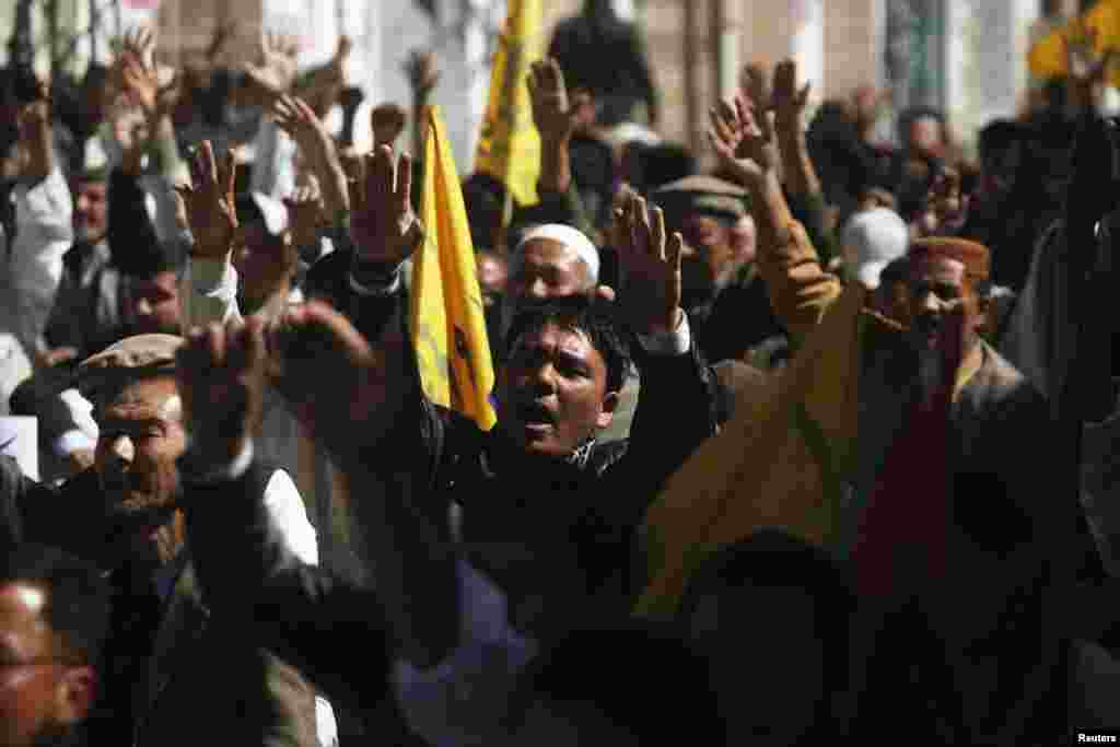
[{"label": "yellow flag at top edge, behind the central yellow flag", "polygon": [[510,0],[494,56],[475,170],[502,181],[522,205],[536,202],[541,170],[541,138],[525,81],[530,65],[543,56],[541,0]]}]

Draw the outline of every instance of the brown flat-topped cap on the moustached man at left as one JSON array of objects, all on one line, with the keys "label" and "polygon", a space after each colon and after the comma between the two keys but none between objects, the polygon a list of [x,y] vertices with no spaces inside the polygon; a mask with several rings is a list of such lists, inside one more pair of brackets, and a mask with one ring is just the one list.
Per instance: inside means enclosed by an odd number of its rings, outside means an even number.
[{"label": "brown flat-topped cap on the moustached man at left", "polygon": [[82,395],[96,401],[108,390],[175,373],[175,354],[184,339],[175,335],[136,335],[86,358],[77,370]]}]

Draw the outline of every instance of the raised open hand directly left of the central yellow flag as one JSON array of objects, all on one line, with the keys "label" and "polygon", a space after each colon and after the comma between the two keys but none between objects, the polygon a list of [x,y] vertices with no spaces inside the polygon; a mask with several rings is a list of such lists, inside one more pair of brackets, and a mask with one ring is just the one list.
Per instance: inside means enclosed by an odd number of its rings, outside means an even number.
[{"label": "raised open hand directly left of the central yellow flag", "polygon": [[412,211],[412,158],[382,146],[365,157],[365,176],[352,194],[351,239],[363,262],[399,265],[423,243],[424,228]]}]

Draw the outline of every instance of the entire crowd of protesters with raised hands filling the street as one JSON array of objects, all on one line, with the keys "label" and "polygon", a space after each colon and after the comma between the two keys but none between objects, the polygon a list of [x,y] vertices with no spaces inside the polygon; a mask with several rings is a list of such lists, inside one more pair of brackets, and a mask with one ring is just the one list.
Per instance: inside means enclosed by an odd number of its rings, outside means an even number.
[{"label": "entire crowd of protesters with raised hands filling the street", "polygon": [[435,57],[358,152],[348,40],[228,68],[236,34],[178,69],[139,29],[80,83],[2,71],[0,414],[37,419],[40,476],[0,456],[0,743],[1120,729],[1105,59],[974,160],[942,112],[878,142],[878,92],[814,110],[754,64],[701,153],[589,1],[525,82],[539,200],[461,181],[483,431],[409,332],[400,141],[423,152]]}]

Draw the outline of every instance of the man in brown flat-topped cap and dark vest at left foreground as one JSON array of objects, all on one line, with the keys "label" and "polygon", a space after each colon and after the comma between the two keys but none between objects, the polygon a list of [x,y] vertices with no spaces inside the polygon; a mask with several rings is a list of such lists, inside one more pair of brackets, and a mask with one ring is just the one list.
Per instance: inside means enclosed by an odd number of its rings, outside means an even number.
[{"label": "man in brown flat-topped cap and dark vest at left foreground", "polygon": [[[181,342],[142,335],[86,361],[81,390],[100,429],[94,466],[58,489],[6,470],[6,515],[20,522],[19,539],[87,558],[113,586],[110,666],[90,744],[198,744],[216,728],[237,743],[315,745],[314,691],[273,654],[212,620],[195,582],[181,510],[188,496],[176,469],[187,443],[175,379]],[[258,487],[284,542],[316,562],[314,530],[290,479],[265,470]]]}]

